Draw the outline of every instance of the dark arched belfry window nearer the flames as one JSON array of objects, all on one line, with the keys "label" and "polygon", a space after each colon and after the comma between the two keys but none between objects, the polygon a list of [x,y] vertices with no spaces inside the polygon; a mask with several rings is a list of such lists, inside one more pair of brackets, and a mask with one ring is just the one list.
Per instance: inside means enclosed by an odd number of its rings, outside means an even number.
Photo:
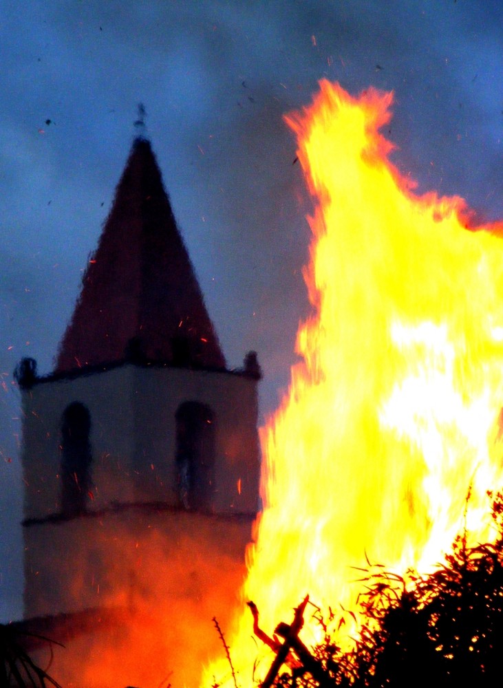
[{"label": "dark arched belfry window nearer the flames", "polygon": [[213,495],[215,419],[197,401],[184,402],[176,412],[178,496],[186,509],[206,511]]}]

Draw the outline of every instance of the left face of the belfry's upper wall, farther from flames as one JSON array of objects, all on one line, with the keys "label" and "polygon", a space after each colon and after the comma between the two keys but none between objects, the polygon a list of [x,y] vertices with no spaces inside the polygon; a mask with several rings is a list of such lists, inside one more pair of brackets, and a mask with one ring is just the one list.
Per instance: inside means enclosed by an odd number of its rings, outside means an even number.
[{"label": "left face of the belfry's upper wall, farther from flames", "polygon": [[77,378],[43,380],[23,391],[24,517],[61,512],[62,419],[72,402],[91,417],[92,497],[89,509],[133,502],[129,468],[134,446],[131,372],[126,366]]}]

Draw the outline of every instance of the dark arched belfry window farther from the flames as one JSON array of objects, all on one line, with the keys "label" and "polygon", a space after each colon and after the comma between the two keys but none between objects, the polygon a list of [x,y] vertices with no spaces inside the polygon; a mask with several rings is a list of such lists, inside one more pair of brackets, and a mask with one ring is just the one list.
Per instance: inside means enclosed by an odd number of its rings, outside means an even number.
[{"label": "dark arched belfry window farther from the flames", "polygon": [[61,423],[61,510],[67,515],[85,511],[91,488],[91,418],[75,401],[66,407]]}]

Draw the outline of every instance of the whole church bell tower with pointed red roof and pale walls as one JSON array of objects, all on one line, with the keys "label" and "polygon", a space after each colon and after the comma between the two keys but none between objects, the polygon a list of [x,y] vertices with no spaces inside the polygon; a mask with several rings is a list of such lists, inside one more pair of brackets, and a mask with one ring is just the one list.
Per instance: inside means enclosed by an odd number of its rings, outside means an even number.
[{"label": "whole church bell tower with pointed red roof and pale walls", "polygon": [[258,504],[259,365],[250,352],[242,369],[226,367],[145,136],[133,141],[54,372],[38,376],[24,359],[17,378],[25,618],[131,614],[162,570],[182,623],[195,598],[220,596],[202,552],[226,561],[237,594]]}]

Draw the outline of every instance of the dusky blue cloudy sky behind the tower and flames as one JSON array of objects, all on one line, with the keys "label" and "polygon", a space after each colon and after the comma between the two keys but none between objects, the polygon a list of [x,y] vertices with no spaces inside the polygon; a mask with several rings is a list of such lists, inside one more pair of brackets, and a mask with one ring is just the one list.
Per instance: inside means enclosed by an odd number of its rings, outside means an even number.
[{"label": "dusky blue cloudy sky behind the tower and flames", "polygon": [[[0,620],[21,615],[19,396],[50,372],[139,101],[228,363],[262,411],[308,313],[309,202],[283,113],[321,78],[396,94],[393,160],[503,217],[500,0],[4,0],[0,14]],[[50,120],[50,121],[49,121]]]}]

